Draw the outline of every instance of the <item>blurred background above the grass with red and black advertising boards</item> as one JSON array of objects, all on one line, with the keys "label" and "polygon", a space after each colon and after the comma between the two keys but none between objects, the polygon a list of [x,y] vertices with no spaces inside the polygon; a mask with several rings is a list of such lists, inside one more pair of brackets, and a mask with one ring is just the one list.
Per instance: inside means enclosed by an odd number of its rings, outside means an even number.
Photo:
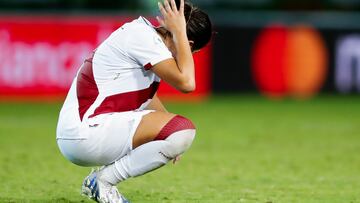
[{"label": "blurred background above the grass with red and black advertising boards", "polygon": [[[194,0],[214,23],[198,90],[310,98],[360,92],[360,1]],[[0,95],[63,97],[83,58],[150,0],[1,0]],[[163,85],[163,96],[178,96]],[[177,98],[177,97],[176,97]]]}]

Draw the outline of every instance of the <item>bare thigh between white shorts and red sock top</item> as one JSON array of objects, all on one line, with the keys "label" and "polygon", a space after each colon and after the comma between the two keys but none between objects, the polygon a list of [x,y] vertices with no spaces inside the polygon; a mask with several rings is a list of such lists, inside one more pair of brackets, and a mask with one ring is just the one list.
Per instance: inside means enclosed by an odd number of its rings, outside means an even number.
[{"label": "bare thigh between white shorts and red sock top", "polygon": [[176,115],[155,111],[142,117],[133,137],[133,148],[153,141],[161,129]]}]

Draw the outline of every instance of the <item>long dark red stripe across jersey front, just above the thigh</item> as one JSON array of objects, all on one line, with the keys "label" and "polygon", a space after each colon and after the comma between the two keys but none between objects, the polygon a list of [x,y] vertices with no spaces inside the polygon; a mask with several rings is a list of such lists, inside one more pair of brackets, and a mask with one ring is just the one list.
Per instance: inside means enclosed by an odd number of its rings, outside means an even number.
[{"label": "long dark red stripe across jersey front, just above the thigh", "polygon": [[95,109],[94,114],[89,116],[89,118],[104,113],[124,112],[138,109],[148,99],[154,97],[158,87],[159,82],[153,82],[150,87],[146,89],[106,97],[100,106]]}]

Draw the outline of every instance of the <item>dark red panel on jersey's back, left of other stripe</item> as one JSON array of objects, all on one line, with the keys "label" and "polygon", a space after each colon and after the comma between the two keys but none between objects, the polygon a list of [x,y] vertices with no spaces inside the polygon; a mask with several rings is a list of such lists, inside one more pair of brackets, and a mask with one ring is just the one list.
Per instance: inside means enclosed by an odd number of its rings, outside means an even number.
[{"label": "dark red panel on jersey's back, left of other stripe", "polygon": [[79,102],[79,114],[81,120],[99,95],[99,90],[93,74],[93,57],[94,53],[84,61],[76,81],[76,94]]}]

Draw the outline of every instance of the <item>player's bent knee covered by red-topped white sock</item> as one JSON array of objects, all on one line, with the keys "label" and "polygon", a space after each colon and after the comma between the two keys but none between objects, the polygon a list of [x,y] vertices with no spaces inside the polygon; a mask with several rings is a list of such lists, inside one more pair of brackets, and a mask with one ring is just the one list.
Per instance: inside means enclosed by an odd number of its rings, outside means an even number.
[{"label": "player's bent knee covered by red-topped white sock", "polygon": [[160,131],[155,140],[166,140],[170,143],[172,158],[188,150],[195,138],[194,124],[187,118],[175,116]]}]

